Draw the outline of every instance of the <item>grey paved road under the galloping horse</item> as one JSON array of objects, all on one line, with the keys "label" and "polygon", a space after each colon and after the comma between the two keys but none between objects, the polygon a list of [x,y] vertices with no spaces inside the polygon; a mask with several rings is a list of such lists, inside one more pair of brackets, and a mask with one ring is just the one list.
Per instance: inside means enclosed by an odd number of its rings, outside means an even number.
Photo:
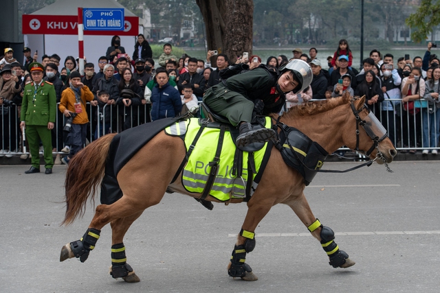
[{"label": "grey paved road under the galloping horse", "polygon": [[[327,163],[329,168],[354,163]],[[165,196],[126,235],[128,262],[140,283],[108,275],[110,228],[89,259],[59,262],[61,247],[79,239],[92,217],[63,219],[65,167],[25,175],[0,166],[0,292],[439,292],[440,162],[373,165],[349,174],[318,174],[307,198],[336,242],[357,263],[333,269],[296,215],[276,206],[259,225],[247,257],[259,281],[228,277],[226,266],[245,204],[214,211],[179,194]]]}]

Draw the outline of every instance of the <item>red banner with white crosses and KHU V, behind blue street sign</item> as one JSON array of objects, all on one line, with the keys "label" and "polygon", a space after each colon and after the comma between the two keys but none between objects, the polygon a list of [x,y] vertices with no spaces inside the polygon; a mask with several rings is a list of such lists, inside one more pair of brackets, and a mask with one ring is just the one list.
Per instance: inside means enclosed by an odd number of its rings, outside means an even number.
[{"label": "red banner with white crosses and KHU V, behind blue street sign", "polygon": [[[137,36],[139,17],[125,16],[124,31],[89,31],[85,36]],[[78,35],[78,16],[76,15],[34,15],[23,14],[21,18],[23,34],[76,34]]]}]

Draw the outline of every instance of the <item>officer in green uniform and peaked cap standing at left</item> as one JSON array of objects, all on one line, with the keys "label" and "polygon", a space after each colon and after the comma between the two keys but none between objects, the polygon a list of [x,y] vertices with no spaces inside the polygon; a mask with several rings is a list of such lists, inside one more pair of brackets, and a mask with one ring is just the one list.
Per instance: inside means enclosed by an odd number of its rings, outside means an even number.
[{"label": "officer in green uniform and peaked cap standing at left", "polygon": [[54,158],[52,156],[52,133],[56,117],[56,93],[54,86],[43,81],[44,67],[39,62],[29,65],[32,75],[30,84],[25,86],[21,104],[21,128],[25,128],[32,167],[25,174],[40,172],[39,143],[43,142],[45,174],[52,174]]}]

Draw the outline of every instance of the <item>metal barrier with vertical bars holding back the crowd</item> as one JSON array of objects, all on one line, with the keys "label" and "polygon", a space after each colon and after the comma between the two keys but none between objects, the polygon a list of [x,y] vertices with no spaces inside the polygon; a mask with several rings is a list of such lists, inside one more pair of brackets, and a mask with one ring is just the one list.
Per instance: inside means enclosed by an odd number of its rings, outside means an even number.
[{"label": "metal barrier with vertical bars holding back the crowd", "polygon": [[[428,108],[417,108],[418,113],[411,115],[404,109],[401,99],[388,99],[393,102],[393,110],[381,110],[375,113],[384,127],[388,130],[397,150],[434,150],[439,146],[439,141],[434,142],[434,147],[423,145],[423,127],[430,127],[430,121],[437,121],[437,113],[430,113]],[[423,99],[422,99],[423,100]],[[314,102],[317,100],[311,100]],[[57,105],[58,106],[58,105]],[[92,106],[87,103],[87,113],[89,115],[89,125],[87,129],[87,143],[98,139],[103,134],[111,132],[121,132],[140,124],[151,121],[149,109],[150,104],[141,106],[119,106],[105,105],[101,110],[98,106]],[[292,106],[292,105],[289,105]],[[285,108],[286,110],[287,108]],[[9,155],[29,154],[29,148],[26,145],[26,152],[23,152],[23,136],[19,127],[19,106],[1,106],[1,151],[3,155],[5,150],[9,150]],[[199,113],[201,115],[201,113]],[[432,117],[433,116],[433,117]],[[54,145],[54,154],[64,154],[61,150],[65,147],[66,135],[63,133],[65,125],[64,115],[57,110],[55,128],[52,130],[52,145]],[[434,131],[439,132],[440,126],[434,125]],[[98,131],[97,131],[98,129]],[[99,131],[102,130],[102,131]],[[427,137],[430,143],[430,137]],[[417,143],[417,144],[416,144]],[[341,148],[340,150],[348,150]]]}]

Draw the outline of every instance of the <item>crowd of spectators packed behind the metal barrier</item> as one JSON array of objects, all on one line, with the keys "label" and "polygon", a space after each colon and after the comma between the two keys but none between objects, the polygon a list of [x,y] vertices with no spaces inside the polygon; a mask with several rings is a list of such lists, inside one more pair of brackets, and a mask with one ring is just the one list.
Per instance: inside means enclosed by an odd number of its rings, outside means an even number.
[{"label": "crowd of spectators packed behind the metal barrier", "polygon": [[[430,53],[431,48],[432,43],[428,43],[423,58],[411,59],[405,55],[397,60],[391,54],[381,54],[374,49],[369,58],[362,60],[360,71],[352,66],[353,56],[347,40],[340,40],[338,49],[327,60],[318,58],[318,49],[314,47],[308,54],[295,48],[292,59],[308,62],[314,79],[301,93],[287,93],[287,105],[311,99],[331,99],[346,92],[365,95],[366,104],[382,121],[393,143],[402,148],[401,152],[415,154],[416,148],[423,148],[423,154],[437,154],[440,61]],[[111,131],[120,132],[187,111],[199,115],[195,110],[197,101],[201,101],[206,89],[221,82],[220,72],[230,65],[246,64],[245,70],[261,66],[277,70],[289,62],[284,55],[270,56],[262,64],[256,55],[243,54],[232,59],[217,51],[208,51],[206,60],[186,54],[178,58],[173,54],[173,46],[165,44],[157,66],[142,34],[137,36],[131,56],[121,46],[120,37],[113,36],[106,54],[96,60],[97,63],[85,62],[83,75],[78,72],[78,59],[73,56],[67,56],[61,63],[58,54],[40,57],[31,52],[25,47],[23,58],[17,60],[13,50],[6,48],[0,58],[3,136],[0,156],[10,157],[25,148],[21,145],[23,149],[20,149],[17,143],[22,131],[19,117],[23,89],[32,82],[29,65],[41,62],[45,69],[44,80],[53,84],[59,105],[56,126],[52,130],[53,151],[58,153],[55,164],[68,163],[84,145],[85,137],[91,141]],[[76,104],[81,101],[84,112],[78,113]],[[86,102],[91,106],[85,106]],[[63,131],[65,120],[75,112],[74,127],[67,133]],[[61,153],[65,153],[65,158]],[[22,154],[21,158],[28,156]]]}]

